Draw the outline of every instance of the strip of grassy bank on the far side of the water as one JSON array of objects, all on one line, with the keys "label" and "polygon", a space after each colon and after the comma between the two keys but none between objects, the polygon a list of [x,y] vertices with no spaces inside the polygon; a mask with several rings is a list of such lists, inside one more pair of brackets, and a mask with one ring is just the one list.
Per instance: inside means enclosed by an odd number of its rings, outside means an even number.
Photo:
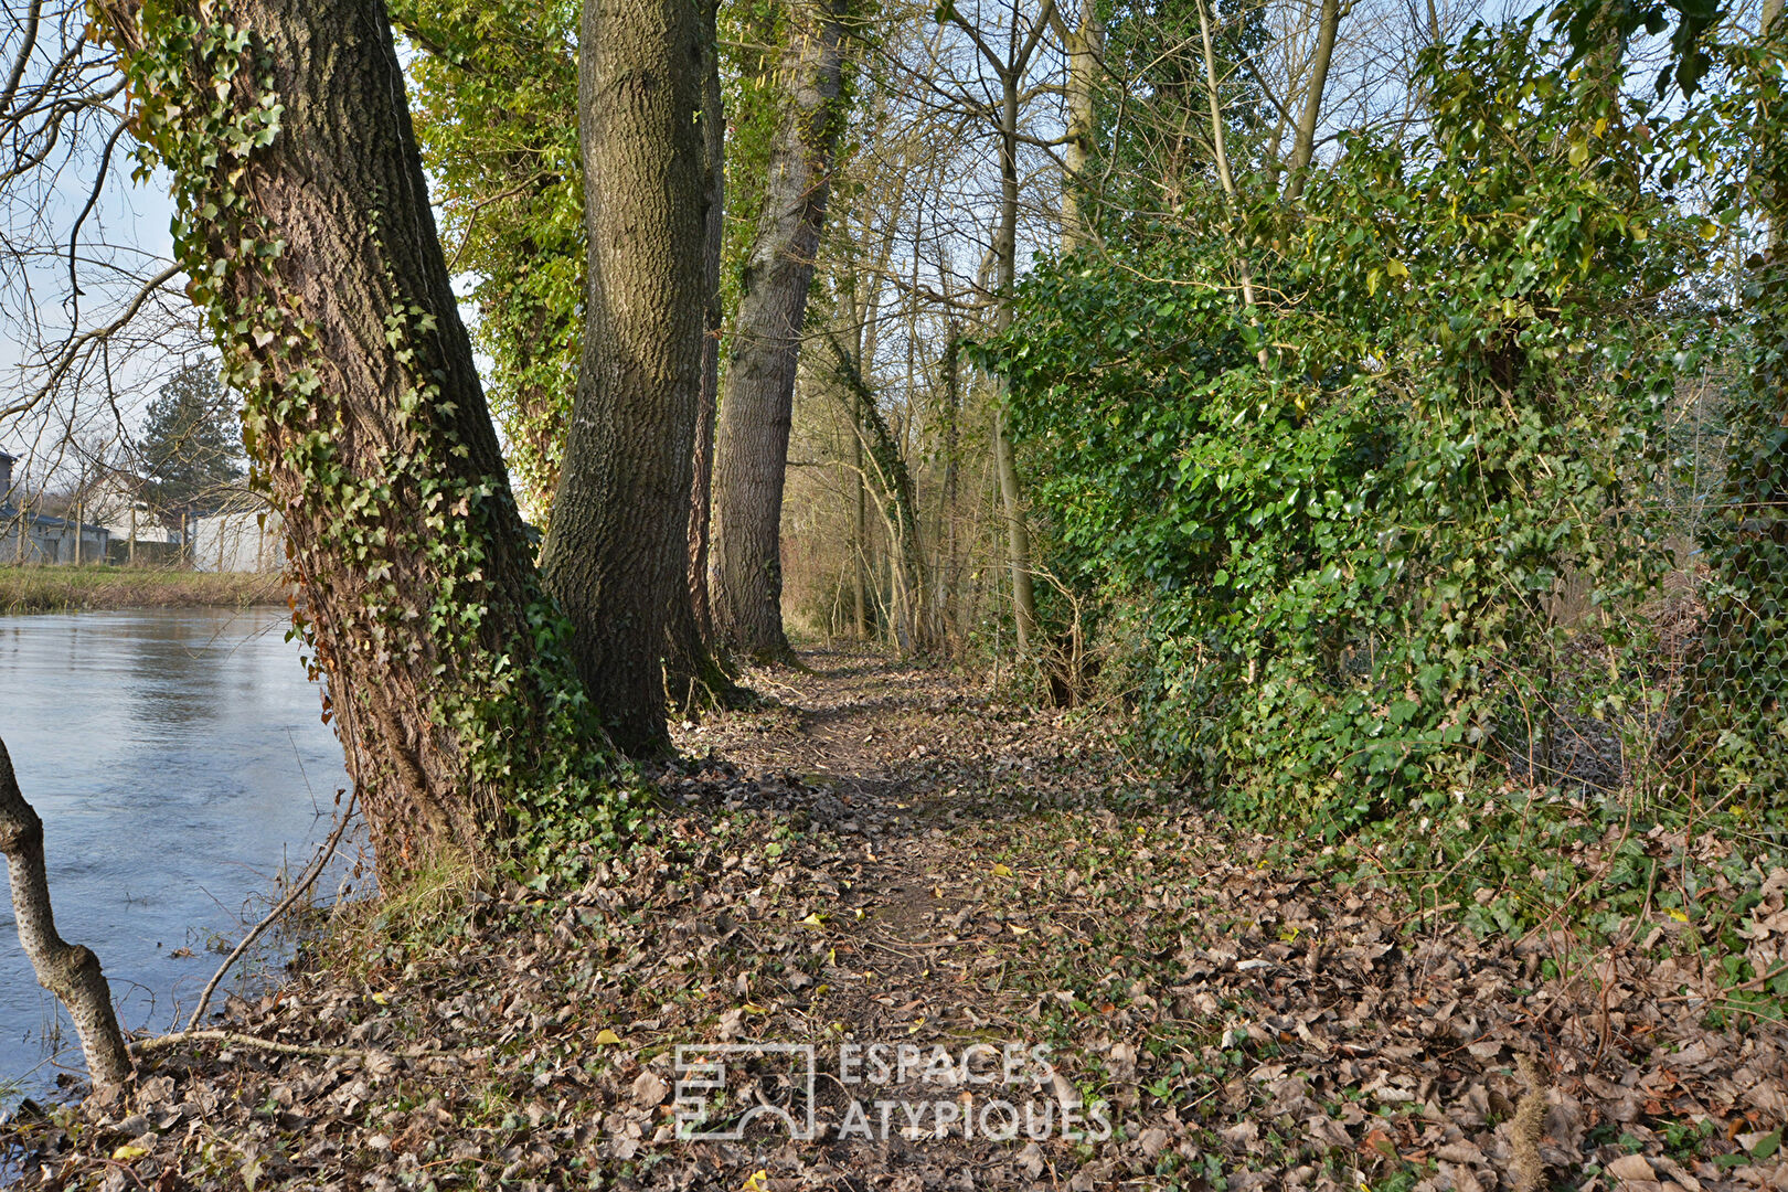
[{"label": "strip of grassy bank on the far side of the water", "polygon": [[136,567],[0,567],[0,613],[284,604],[279,574]]}]

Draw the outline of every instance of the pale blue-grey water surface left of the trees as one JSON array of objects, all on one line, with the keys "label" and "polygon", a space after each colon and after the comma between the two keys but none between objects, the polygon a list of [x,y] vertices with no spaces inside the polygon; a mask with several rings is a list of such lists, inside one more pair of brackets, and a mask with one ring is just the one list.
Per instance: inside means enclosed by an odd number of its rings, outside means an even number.
[{"label": "pale blue-grey water surface left of the trees", "polygon": [[[0,740],[43,817],[55,924],[98,953],[127,1029],[190,1012],[211,949],[329,835],[347,774],[288,624],[277,608],[0,617]],[[80,1070],[80,1047],[0,897],[0,1106],[57,1065]]]}]

